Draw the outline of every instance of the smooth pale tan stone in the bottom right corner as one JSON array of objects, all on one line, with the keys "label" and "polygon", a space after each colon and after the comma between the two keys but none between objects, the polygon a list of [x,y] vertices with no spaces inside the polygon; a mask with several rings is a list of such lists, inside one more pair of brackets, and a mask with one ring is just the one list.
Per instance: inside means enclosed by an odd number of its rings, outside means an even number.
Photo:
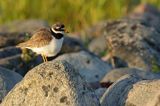
[{"label": "smooth pale tan stone in the bottom right corner", "polygon": [[159,106],[160,80],[145,80],[133,85],[125,106]]}]

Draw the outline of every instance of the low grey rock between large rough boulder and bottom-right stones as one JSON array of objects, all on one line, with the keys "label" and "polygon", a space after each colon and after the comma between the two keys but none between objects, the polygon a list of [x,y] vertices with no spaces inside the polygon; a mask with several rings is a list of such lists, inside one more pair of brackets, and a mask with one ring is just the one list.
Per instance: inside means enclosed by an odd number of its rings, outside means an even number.
[{"label": "low grey rock between large rough boulder and bottom-right stones", "polygon": [[124,75],[132,75],[132,74],[137,74],[141,78],[146,79],[146,78],[160,78],[159,74],[155,74],[152,72],[146,72],[143,70],[139,70],[136,68],[117,68],[113,69],[110,72],[108,72],[100,81],[101,85],[103,87],[108,87],[108,85],[111,85],[112,83],[116,82],[119,78],[121,78]]}]

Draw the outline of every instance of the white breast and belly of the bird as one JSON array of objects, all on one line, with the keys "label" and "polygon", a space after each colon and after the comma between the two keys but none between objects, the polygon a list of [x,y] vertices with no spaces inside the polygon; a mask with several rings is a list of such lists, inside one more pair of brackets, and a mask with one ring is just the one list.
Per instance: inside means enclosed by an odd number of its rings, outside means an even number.
[{"label": "white breast and belly of the bird", "polygon": [[56,54],[59,53],[59,51],[62,48],[64,38],[61,39],[53,39],[49,43],[49,45],[40,47],[40,48],[29,48],[32,51],[36,52],[37,54],[43,54],[46,55],[47,57],[55,56]]}]

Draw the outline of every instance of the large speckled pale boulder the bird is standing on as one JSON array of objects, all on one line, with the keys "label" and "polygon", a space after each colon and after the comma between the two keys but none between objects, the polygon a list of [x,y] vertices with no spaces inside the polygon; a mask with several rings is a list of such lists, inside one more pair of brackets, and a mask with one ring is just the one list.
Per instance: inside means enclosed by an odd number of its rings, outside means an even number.
[{"label": "large speckled pale boulder the bird is standing on", "polygon": [[1,106],[99,106],[95,93],[66,61],[43,63],[30,70]]}]

